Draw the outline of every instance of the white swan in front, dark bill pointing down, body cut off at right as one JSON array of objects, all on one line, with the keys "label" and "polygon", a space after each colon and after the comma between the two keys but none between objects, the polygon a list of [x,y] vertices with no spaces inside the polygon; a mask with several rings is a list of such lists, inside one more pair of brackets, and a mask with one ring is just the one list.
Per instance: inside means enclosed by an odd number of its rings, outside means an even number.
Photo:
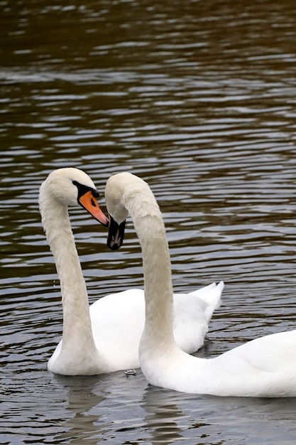
[{"label": "white swan in front, dark bill pointing down, body cut off at right", "polygon": [[295,330],[257,338],[215,358],[197,358],[178,347],[168,242],[153,193],[141,178],[119,173],[107,181],[105,198],[109,247],[120,247],[128,213],[141,244],[146,321],[139,358],[148,382],[204,395],[296,397]]}]

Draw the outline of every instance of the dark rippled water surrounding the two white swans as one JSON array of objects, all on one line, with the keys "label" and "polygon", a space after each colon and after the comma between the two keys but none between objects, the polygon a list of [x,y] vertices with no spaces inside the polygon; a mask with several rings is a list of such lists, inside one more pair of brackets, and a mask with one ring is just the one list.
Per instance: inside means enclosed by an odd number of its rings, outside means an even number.
[{"label": "dark rippled water surrounding the two white swans", "polygon": [[[295,328],[293,1],[0,1],[1,444],[294,444],[294,400],[199,397],[141,371],[59,377],[60,290],[38,213],[47,174],[104,191],[131,171],[163,210],[175,291],[224,279],[203,356]],[[103,202],[103,198],[102,198]],[[142,286],[71,209],[89,301]]]}]

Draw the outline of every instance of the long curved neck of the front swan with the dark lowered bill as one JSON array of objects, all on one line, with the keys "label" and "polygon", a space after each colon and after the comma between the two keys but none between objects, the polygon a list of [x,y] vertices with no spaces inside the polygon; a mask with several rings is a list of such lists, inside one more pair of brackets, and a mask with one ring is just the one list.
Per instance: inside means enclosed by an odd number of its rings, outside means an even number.
[{"label": "long curved neck of the front swan with the dark lowered bill", "polygon": [[153,193],[132,193],[124,203],[131,214],[143,256],[146,301],[146,343],[167,348],[172,334],[172,279],[168,241],[163,218]]}]

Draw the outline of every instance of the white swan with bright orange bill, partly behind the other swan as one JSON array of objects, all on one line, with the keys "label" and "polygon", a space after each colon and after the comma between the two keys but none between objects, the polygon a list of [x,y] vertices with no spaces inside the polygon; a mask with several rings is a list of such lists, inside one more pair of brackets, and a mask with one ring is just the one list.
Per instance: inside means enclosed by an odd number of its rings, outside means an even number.
[{"label": "white swan with bright orange bill, partly behind the other swan", "polygon": [[[48,369],[63,375],[95,375],[138,368],[138,345],[145,323],[141,289],[110,294],[89,308],[68,205],[80,204],[103,225],[94,183],[77,168],[50,173],[40,187],[40,213],[60,277],[63,309],[62,341]],[[202,346],[207,323],[219,305],[223,285],[210,285],[192,294],[175,296],[177,342],[188,352]]]}]

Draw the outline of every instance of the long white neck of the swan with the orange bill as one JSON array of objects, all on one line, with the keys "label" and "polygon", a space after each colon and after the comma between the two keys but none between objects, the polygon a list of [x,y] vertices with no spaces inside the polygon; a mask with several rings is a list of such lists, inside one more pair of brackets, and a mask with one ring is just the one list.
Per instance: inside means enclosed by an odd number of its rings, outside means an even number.
[{"label": "long white neck of the swan with the orange bill", "polygon": [[[94,346],[87,288],[67,214],[67,206],[40,194],[40,213],[60,277],[63,309],[62,349]],[[83,347],[83,345],[82,345]]]}]

